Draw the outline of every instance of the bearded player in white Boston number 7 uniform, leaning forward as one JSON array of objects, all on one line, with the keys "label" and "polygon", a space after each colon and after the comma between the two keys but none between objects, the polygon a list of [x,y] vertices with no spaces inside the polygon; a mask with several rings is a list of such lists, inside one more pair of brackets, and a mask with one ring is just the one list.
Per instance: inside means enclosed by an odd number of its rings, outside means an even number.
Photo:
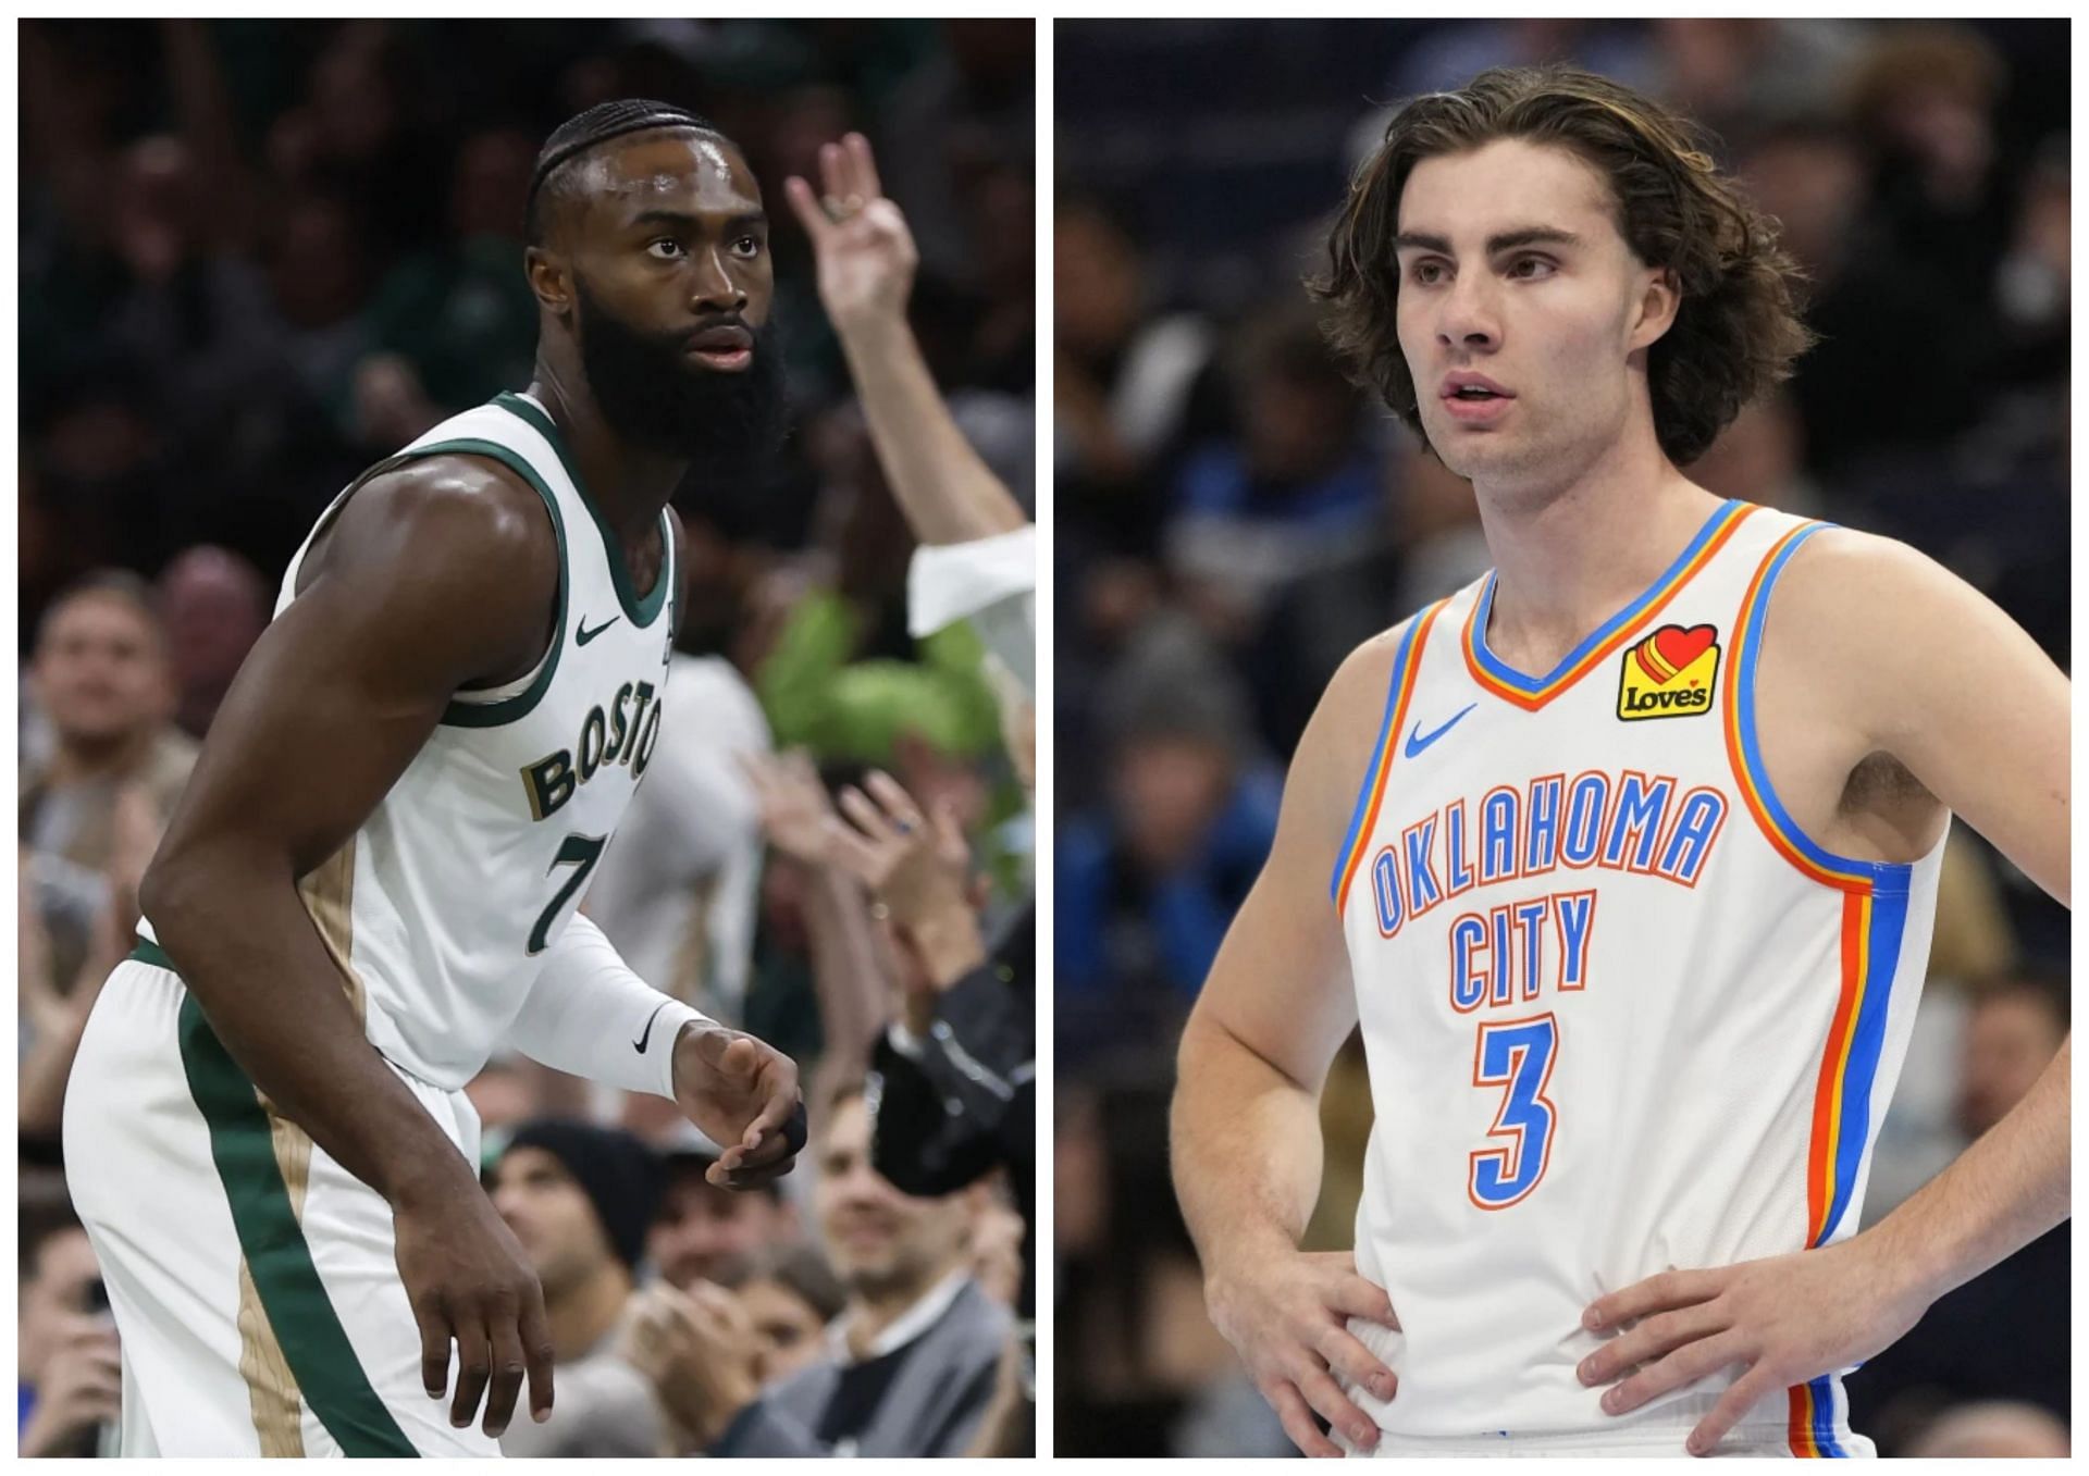
[{"label": "bearded player in white Boston number 7 uniform, leaning forward", "polygon": [[462,1090],[497,1048],[677,1100],[731,1188],[804,1140],[788,1058],[574,914],[660,741],[668,495],[775,434],[760,190],[704,119],[608,102],[539,154],[524,261],[529,392],[320,518],[81,1040],[65,1159],[123,1455],[495,1455],[524,1374],[549,1413]]}]

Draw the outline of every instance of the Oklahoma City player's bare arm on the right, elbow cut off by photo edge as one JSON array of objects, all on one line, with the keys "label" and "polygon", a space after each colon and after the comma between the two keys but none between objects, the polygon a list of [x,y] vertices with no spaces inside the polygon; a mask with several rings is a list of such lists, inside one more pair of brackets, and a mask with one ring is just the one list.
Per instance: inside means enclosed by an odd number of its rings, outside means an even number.
[{"label": "Oklahoma City player's bare arm on the right, elbow cut off by photo edge", "polygon": [[[1884,539],[1820,532],[1786,582],[1759,679],[1776,735],[1765,762],[1811,833],[1842,854],[1911,860],[1951,810],[2066,902],[2068,681],[2053,662],[1978,591]],[[1629,1330],[1586,1359],[1583,1380],[1644,1363],[1604,1395],[1623,1413],[1748,1363],[1692,1434],[1707,1451],[1757,1399],[1872,1357],[1937,1296],[2066,1219],[2070,1056],[2064,1044],[2001,1123],[1872,1230],[1604,1296],[1592,1326]]]}]

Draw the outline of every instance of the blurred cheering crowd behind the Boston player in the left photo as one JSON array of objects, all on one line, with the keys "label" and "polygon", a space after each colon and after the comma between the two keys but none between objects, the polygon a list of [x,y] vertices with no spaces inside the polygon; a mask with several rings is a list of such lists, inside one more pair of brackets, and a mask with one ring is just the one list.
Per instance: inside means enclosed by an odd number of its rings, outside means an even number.
[{"label": "blurred cheering crowd behind the Boston player in the left photo", "polygon": [[[671,1102],[495,1058],[485,1184],[558,1355],[554,1418],[506,1445],[1026,1451],[1034,718],[971,626],[909,635],[921,530],[781,182],[873,140],[913,334],[1028,505],[1032,23],[31,21],[21,54],[21,1451],[96,1453],[117,1415],[58,1113],[198,741],[334,493],[529,382],[531,167],[618,96],[714,119],[762,182],[792,434],[758,484],[677,495],[683,716],[583,906],[798,1061],[813,1140],[733,1194]],[[1009,1000],[1024,1040],[965,1096],[938,1050]]]}]

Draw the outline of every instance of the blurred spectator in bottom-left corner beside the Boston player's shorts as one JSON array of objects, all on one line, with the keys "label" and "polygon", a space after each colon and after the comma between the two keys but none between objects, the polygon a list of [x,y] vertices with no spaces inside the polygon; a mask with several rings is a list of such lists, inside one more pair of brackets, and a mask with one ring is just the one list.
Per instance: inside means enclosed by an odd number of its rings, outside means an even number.
[{"label": "blurred spectator in bottom-left corner beside the Boston player's shorts", "polygon": [[69,1209],[25,1211],[19,1240],[17,1451],[96,1455],[121,1413],[123,1372],[94,1248]]}]

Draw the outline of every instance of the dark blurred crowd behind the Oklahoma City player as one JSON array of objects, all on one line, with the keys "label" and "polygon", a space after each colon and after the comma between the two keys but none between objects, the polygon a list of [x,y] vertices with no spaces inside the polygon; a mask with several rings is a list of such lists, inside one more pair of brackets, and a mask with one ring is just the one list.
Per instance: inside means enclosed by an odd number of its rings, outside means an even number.
[{"label": "dark blurred crowd behind the Oklahoma City player", "polygon": [[[1289,1453],[1166,1188],[1174,1044],[1327,679],[1487,568],[1471,489],[1343,378],[1299,280],[1391,109],[1542,61],[1709,125],[1805,267],[1822,344],[1690,476],[1905,539],[2068,662],[2066,23],[1057,27],[1055,752],[1084,756],[1055,775],[1061,1455]],[[1959,829],[1868,1219],[2051,1056],[2066,937]],[[1370,1127],[1354,1042],[1322,1115],[1333,1248]],[[1855,1426],[2064,1451],[2066,1286],[2062,1225],[1851,1378]]]}]

